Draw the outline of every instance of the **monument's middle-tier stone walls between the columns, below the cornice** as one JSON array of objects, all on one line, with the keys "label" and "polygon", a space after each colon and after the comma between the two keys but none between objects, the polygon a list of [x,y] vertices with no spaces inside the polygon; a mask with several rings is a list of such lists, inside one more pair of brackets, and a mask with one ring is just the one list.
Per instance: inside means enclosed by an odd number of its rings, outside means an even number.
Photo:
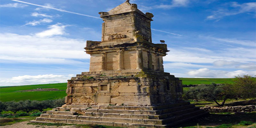
[{"label": "monument's middle-tier stone walls between the columns, below the cornice", "polygon": [[[119,57],[119,52],[121,49],[121,58]],[[119,69],[119,61],[122,63],[122,69],[136,69],[138,53],[136,51],[136,47],[133,48],[120,48],[116,50],[108,50],[104,49],[101,51],[95,51],[91,53],[90,58],[90,72],[103,70],[103,63],[106,63],[104,70],[118,70]],[[145,69],[154,69],[159,71],[164,71],[163,67],[163,54],[160,52],[156,52],[153,50],[149,50],[146,48],[141,48],[141,57],[142,64]],[[99,53],[100,52],[100,53]],[[150,52],[150,55],[149,55]],[[105,60],[103,60],[103,56],[105,56]],[[151,58],[151,59],[149,59]],[[106,62],[103,62],[106,61]],[[151,67],[150,67],[151,65]]]}]

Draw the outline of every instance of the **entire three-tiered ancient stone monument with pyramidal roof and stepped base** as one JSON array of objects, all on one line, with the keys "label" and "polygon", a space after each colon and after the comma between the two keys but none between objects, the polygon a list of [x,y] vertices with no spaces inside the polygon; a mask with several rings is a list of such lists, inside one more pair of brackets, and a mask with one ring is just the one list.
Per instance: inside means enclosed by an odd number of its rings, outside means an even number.
[{"label": "entire three-tiered ancient stone monument with pyramidal roof and stepped base", "polygon": [[153,14],[129,0],[99,14],[102,41],[87,41],[84,48],[90,71],[68,80],[65,105],[34,122],[158,128],[205,114],[182,100],[181,80],[164,72],[169,51],[152,43]]}]

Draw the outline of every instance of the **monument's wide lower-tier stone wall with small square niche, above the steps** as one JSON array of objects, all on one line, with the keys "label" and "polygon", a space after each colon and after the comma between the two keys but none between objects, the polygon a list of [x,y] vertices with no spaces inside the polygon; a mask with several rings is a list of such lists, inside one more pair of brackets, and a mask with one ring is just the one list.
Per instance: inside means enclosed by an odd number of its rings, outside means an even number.
[{"label": "monument's wide lower-tier stone wall with small square niche, above the steps", "polygon": [[68,104],[161,105],[181,100],[180,80],[166,78],[93,78],[69,80]]}]

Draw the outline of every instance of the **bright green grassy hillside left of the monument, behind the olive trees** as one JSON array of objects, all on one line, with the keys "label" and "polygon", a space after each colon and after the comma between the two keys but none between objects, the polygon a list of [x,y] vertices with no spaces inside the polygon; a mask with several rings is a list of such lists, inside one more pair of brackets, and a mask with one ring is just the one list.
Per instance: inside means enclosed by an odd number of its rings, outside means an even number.
[{"label": "bright green grassy hillside left of the monument, behind the olive trees", "polygon": [[59,99],[59,98],[65,97],[67,95],[66,91],[15,92],[15,91],[30,90],[30,89],[36,89],[36,88],[57,88],[59,90],[66,90],[67,83],[1,87],[0,101],[52,100],[52,99]]}]

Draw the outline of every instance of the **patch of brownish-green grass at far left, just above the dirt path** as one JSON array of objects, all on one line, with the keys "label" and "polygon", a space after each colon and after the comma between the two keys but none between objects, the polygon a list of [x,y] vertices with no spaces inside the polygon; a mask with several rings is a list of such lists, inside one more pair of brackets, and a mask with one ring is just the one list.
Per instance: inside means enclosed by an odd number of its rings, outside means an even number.
[{"label": "patch of brownish-green grass at far left, just above the dirt path", "polygon": [[19,118],[1,118],[0,126],[11,125],[17,122],[23,122],[23,121],[34,120],[34,119],[36,119],[36,117],[31,117],[31,116],[20,116]]}]

